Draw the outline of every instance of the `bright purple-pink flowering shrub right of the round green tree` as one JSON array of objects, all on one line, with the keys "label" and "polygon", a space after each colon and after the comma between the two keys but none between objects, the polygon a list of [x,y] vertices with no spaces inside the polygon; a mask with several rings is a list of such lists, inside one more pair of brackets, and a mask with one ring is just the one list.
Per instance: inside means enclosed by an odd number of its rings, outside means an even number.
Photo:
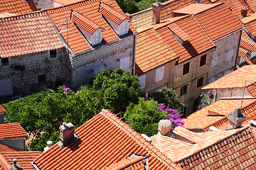
[{"label": "bright purple-pink flowering shrub right of the round green tree", "polygon": [[164,103],[159,104],[158,108],[166,114],[166,119],[171,121],[171,130],[174,130],[176,126],[181,126],[182,128],[184,128],[184,121],[181,120],[181,115],[183,115],[183,113],[181,113],[180,111],[176,111],[172,108],[166,108],[166,106],[164,106]]}]

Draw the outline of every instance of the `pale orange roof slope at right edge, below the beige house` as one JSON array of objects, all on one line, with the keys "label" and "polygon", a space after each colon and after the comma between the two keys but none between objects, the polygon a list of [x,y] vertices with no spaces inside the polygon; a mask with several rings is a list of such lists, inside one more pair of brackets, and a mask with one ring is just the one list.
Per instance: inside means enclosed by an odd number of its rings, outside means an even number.
[{"label": "pale orange roof slope at right edge, below the beige house", "polygon": [[234,72],[221,77],[220,79],[213,81],[213,83],[204,86],[202,89],[226,89],[226,88],[241,88],[250,86],[252,82],[256,82],[256,65],[244,66],[240,69],[236,69]]}]

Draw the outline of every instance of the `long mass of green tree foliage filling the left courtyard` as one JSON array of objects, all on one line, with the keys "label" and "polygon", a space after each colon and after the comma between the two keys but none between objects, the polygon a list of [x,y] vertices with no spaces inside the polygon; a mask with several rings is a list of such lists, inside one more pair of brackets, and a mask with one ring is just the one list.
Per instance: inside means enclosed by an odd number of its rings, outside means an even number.
[{"label": "long mass of green tree foliage filling the left courtyard", "polygon": [[10,123],[20,123],[33,135],[28,149],[43,151],[48,140],[58,142],[59,127],[64,121],[78,127],[102,108],[113,111],[130,102],[136,103],[141,92],[137,76],[131,77],[122,69],[103,70],[93,77],[90,86],[82,86],[76,93],[63,86],[58,92],[49,89],[3,106]]}]

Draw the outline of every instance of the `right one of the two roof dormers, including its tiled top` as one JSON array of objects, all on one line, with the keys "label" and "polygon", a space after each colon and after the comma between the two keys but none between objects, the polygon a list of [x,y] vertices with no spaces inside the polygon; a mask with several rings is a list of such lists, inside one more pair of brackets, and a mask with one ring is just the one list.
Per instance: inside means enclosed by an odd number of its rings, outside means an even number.
[{"label": "right one of the two roof dormers, including its tiled top", "polygon": [[131,19],[124,14],[118,13],[114,8],[103,3],[100,4],[100,13],[119,36],[129,32],[129,22]]}]

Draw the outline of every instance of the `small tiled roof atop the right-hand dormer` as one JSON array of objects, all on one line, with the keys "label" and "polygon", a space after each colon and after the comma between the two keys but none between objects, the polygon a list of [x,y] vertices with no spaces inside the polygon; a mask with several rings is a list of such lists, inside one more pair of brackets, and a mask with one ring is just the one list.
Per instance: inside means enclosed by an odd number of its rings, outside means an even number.
[{"label": "small tiled roof atop the right-hand dormer", "polygon": [[126,19],[128,19],[129,21],[131,20],[124,14],[118,13],[117,11],[114,10],[114,8],[111,8],[110,6],[107,6],[104,3],[100,4],[100,13],[103,16],[110,18],[111,21],[113,21],[114,23],[117,23],[118,25]]}]

